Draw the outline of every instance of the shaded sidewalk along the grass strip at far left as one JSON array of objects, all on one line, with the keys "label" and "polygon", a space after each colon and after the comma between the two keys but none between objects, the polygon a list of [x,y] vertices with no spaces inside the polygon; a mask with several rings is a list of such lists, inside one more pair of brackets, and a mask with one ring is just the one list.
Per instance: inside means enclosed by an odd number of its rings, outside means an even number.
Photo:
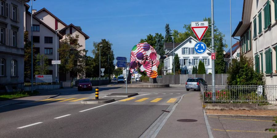
[{"label": "shaded sidewalk along the grass strip at far left", "polygon": [[18,103],[33,102],[33,101],[47,99],[47,98],[53,98],[59,95],[59,93],[54,92],[54,90],[39,90],[39,92],[40,94],[35,96],[0,101],[0,107],[7,106],[7,105],[14,105]]}]

